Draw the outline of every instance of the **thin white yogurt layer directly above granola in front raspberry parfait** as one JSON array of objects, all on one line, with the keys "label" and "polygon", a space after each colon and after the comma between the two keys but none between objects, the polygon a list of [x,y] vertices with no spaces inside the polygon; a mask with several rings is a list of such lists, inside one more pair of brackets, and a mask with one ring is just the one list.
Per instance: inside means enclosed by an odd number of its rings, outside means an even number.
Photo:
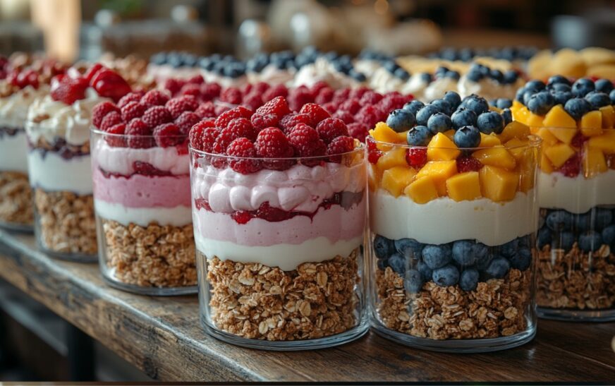
[{"label": "thin white yogurt layer directly above granola in front raspberry parfait", "polygon": [[301,244],[276,244],[274,246],[242,246],[230,241],[205,239],[195,232],[197,249],[207,258],[217,256],[220,260],[238,263],[260,263],[292,271],[303,263],[321,263],[336,255],[349,256],[363,243],[363,236],[331,243],[320,236]]}]

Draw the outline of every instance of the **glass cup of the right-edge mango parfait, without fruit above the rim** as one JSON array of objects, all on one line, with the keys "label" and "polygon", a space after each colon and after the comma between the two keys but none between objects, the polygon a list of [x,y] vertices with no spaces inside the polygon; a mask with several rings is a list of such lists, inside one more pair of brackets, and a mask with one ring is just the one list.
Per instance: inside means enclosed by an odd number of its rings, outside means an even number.
[{"label": "glass cup of the right-edge mango parfait, without fruit above the rim", "polygon": [[541,318],[615,320],[615,129],[535,127]]}]

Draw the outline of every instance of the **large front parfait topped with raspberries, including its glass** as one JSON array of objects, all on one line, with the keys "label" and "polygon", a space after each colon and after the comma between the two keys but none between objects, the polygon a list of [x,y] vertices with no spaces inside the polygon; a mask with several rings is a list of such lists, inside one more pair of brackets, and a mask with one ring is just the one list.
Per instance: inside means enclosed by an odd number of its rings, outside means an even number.
[{"label": "large front parfait topped with raspberries, including its glass", "polygon": [[277,97],[190,131],[201,318],[233,344],[310,349],[367,328],[363,147],[318,104],[300,114],[290,124]]}]

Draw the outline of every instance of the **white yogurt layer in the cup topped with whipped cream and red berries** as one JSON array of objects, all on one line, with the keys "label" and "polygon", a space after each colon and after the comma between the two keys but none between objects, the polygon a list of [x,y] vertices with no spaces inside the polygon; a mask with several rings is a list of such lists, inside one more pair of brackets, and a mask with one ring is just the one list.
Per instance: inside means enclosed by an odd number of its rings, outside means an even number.
[{"label": "white yogurt layer in the cup topped with whipped cream and red berries", "polygon": [[78,195],[92,194],[90,155],[63,159],[55,152],[28,152],[30,185],[44,191],[68,191]]}]

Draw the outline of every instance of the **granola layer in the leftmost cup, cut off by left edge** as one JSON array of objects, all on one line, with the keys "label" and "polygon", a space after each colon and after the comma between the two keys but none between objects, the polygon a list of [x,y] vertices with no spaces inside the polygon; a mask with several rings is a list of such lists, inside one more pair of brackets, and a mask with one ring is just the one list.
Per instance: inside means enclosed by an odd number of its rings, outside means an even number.
[{"label": "granola layer in the leftmost cup, cut off by left edge", "polygon": [[32,190],[28,175],[0,171],[0,222],[32,225]]}]

